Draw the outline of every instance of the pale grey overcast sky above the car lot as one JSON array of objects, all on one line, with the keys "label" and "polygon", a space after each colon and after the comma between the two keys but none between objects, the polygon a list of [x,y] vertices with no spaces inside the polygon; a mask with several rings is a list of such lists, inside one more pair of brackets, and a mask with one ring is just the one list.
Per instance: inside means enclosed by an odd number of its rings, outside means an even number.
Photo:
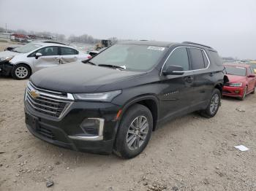
[{"label": "pale grey overcast sky above the car lot", "polygon": [[0,0],[0,26],[208,44],[256,59],[256,0]]}]

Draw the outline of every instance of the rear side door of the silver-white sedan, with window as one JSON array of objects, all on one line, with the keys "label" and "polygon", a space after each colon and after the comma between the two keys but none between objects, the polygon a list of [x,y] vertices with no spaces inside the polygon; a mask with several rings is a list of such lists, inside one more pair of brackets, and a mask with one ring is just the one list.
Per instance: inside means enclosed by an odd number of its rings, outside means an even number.
[{"label": "rear side door of the silver-white sedan, with window", "polygon": [[69,47],[60,47],[60,63],[78,61],[78,50]]}]

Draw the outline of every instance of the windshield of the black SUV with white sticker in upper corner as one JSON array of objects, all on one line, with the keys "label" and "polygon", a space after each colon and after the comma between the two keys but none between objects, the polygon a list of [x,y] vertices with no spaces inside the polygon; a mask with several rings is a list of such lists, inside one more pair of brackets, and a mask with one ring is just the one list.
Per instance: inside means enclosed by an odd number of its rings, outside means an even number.
[{"label": "windshield of the black SUV with white sticker in upper corner", "polygon": [[91,59],[96,65],[113,65],[129,71],[148,71],[157,64],[165,47],[115,44]]}]

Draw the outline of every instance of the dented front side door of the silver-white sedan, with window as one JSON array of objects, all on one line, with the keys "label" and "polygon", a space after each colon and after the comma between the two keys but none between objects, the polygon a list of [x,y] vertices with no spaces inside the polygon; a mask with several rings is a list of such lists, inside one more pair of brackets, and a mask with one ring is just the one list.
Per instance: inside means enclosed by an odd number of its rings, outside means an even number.
[{"label": "dented front side door of the silver-white sedan, with window", "polygon": [[59,47],[43,47],[37,50],[37,52],[41,53],[42,56],[40,56],[39,58],[34,57],[34,71],[38,71],[40,69],[45,69],[53,66],[59,66]]}]

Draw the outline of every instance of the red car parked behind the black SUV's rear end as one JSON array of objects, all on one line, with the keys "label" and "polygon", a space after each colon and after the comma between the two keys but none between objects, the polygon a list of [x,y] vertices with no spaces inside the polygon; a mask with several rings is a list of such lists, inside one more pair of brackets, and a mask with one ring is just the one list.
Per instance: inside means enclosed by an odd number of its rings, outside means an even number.
[{"label": "red car parked behind the black SUV's rear end", "polygon": [[244,100],[249,93],[255,93],[256,77],[251,66],[239,63],[224,65],[227,71],[227,82],[222,90],[222,95]]}]

